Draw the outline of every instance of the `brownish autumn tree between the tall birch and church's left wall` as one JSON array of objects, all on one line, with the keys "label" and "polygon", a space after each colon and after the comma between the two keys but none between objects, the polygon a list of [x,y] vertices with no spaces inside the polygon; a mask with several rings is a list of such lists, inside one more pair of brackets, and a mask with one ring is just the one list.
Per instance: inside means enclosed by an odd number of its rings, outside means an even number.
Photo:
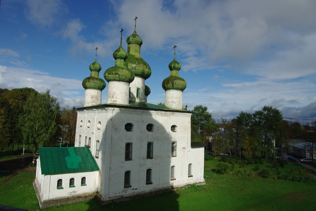
[{"label": "brownish autumn tree between the tall birch and church's left wall", "polygon": [[65,109],[61,111],[60,127],[62,129],[62,137],[65,138],[66,142],[73,146],[75,141],[77,123],[77,111],[76,108]]}]

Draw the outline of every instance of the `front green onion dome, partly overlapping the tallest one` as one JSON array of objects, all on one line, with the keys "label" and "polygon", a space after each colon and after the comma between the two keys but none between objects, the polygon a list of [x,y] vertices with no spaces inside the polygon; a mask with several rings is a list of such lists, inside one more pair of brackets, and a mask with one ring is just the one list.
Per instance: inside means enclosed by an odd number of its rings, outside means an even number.
[{"label": "front green onion dome, partly overlapping the tallest one", "polygon": [[131,83],[134,80],[134,73],[129,68],[125,67],[127,53],[122,47],[122,44],[120,44],[119,48],[114,51],[113,58],[115,59],[115,66],[108,68],[104,72],[106,81],[123,81]]}]

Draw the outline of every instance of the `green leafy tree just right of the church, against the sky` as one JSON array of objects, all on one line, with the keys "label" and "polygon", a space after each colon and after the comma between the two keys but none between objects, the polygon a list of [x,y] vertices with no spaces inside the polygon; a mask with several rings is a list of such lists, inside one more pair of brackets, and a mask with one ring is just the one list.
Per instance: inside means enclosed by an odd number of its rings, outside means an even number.
[{"label": "green leafy tree just right of the church, against the sky", "polygon": [[209,113],[207,111],[207,107],[203,105],[194,106],[191,122],[200,135],[205,129],[214,130],[216,128],[215,120],[212,118],[212,114]]}]

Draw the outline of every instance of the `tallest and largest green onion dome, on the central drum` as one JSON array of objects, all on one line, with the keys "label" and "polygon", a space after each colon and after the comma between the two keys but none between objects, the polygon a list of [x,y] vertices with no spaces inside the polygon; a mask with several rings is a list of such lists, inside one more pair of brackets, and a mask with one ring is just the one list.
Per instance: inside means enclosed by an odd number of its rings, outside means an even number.
[{"label": "tallest and largest green onion dome, on the central drum", "polygon": [[147,62],[140,56],[140,46],[143,44],[142,38],[140,38],[134,30],[134,32],[126,39],[128,57],[125,62],[125,67],[129,68],[135,76],[148,79],[151,75],[151,69]]}]

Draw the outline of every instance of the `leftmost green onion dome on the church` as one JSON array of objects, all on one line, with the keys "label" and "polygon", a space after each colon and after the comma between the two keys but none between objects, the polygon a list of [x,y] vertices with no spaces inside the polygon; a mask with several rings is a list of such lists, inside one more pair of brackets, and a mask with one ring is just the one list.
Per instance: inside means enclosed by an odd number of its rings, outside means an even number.
[{"label": "leftmost green onion dome on the church", "polygon": [[97,89],[103,90],[106,86],[105,81],[99,77],[99,72],[101,70],[101,65],[95,59],[92,64],[90,64],[89,69],[91,75],[82,81],[82,87],[84,89]]}]

